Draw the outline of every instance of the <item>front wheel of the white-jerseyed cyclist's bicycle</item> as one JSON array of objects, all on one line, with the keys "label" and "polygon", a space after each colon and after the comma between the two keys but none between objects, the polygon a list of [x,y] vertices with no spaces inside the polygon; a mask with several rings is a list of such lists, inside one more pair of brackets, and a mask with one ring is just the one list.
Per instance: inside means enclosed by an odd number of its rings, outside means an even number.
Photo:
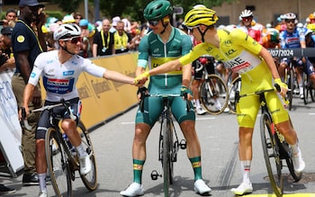
[{"label": "front wheel of the white-jerseyed cyclist's bicycle", "polygon": [[67,154],[62,142],[59,141],[58,132],[50,128],[45,136],[45,152],[47,168],[51,184],[58,197],[72,196],[71,170]]}]

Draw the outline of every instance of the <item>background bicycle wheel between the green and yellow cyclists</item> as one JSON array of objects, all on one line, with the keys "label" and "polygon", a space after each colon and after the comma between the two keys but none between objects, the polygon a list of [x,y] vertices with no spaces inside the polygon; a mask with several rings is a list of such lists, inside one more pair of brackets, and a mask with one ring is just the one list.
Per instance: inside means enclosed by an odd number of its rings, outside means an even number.
[{"label": "background bicycle wheel between the green and yellow cyclists", "polygon": [[220,76],[211,74],[202,82],[199,99],[207,112],[212,115],[220,114],[228,105],[228,87]]}]

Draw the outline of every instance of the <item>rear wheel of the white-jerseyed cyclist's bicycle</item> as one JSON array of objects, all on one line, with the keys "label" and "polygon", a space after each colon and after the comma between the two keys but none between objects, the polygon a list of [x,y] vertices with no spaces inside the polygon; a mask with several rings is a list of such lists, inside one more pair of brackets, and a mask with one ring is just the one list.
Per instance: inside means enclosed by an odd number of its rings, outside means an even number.
[{"label": "rear wheel of the white-jerseyed cyclist's bicycle", "polygon": [[85,125],[82,121],[77,124],[77,130],[80,133],[82,144],[85,147],[85,151],[90,155],[92,170],[86,175],[80,175],[83,184],[85,184],[86,189],[89,191],[94,191],[97,188],[97,167],[94,148],[92,140],[89,136],[88,130],[86,130]]}]

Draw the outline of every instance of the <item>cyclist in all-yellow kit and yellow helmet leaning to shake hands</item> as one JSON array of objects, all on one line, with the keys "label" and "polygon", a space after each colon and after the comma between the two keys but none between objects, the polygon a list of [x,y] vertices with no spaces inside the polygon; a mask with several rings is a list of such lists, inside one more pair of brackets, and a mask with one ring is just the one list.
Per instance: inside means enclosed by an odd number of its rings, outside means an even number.
[{"label": "cyclist in all-yellow kit and yellow helmet leaning to shake hands", "polygon": [[[151,69],[138,78],[147,78],[175,70],[203,54],[210,54],[212,57],[223,61],[233,72],[237,72],[241,76],[240,94],[273,88],[274,81],[275,84],[280,85],[280,94],[284,96],[288,90],[287,85],[281,81],[274,59],[269,52],[243,31],[238,29],[217,31],[214,27],[217,20],[216,12],[208,8],[197,8],[189,11],[184,17],[184,24],[193,34],[193,37],[196,40],[202,40],[203,43],[195,46],[184,57]],[[266,102],[272,112],[276,128],[293,148],[294,170],[296,173],[301,173],[305,163],[298,147],[296,131],[289,121],[288,112],[284,109],[281,99],[275,92],[266,94]],[[252,137],[259,107],[259,98],[255,95],[240,98],[237,105],[238,153],[243,181],[238,188],[231,189],[231,192],[238,195],[253,192],[249,172],[252,160]]]}]

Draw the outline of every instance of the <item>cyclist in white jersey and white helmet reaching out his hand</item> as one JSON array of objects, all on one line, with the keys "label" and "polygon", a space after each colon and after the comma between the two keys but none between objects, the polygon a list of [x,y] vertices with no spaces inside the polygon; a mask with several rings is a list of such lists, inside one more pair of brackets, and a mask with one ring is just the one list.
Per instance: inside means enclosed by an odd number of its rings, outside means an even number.
[{"label": "cyclist in white jersey and white helmet reaching out his hand", "polygon": [[[41,53],[35,60],[31,76],[23,93],[23,107],[29,114],[28,104],[34,87],[38,84],[40,76],[46,89],[46,101],[44,105],[60,102],[65,99],[70,103],[76,121],[69,118],[67,111],[58,110],[63,116],[61,128],[67,134],[71,144],[76,148],[80,162],[80,174],[86,175],[91,171],[91,161],[82,145],[81,138],[76,130],[76,124],[80,118],[81,102],[76,89],[76,81],[82,72],[87,72],[92,76],[103,77],[112,81],[117,81],[130,85],[138,85],[138,81],[130,76],[124,76],[118,72],[98,67],[86,58],[77,54],[80,51],[80,28],[73,23],[62,24],[54,32],[54,40],[58,41],[59,49]],[[144,82],[143,82],[144,83]],[[139,83],[139,85],[143,85]],[[45,132],[50,127],[49,112],[40,114],[40,121],[36,131],[36,170],[40,180],[40,197],[47,196],[45,177],[47,173],[47,163],[45,157]]]}]

